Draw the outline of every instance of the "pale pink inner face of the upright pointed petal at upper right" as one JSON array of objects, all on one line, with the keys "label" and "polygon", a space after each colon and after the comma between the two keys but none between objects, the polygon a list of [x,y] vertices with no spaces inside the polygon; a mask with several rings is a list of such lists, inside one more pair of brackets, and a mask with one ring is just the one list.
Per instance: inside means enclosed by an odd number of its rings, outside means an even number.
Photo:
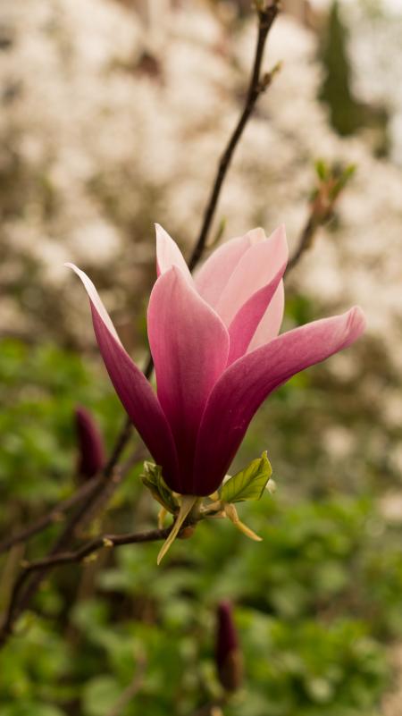
[{"label": "pale pink inner face of the upright pointed petal at upper right", "polygon": [[288,244],[283,226],[269,239],[259,240],[240,258],[216,304],[216,312],[230,325],[246,301],[271,282],[288,261]]}]

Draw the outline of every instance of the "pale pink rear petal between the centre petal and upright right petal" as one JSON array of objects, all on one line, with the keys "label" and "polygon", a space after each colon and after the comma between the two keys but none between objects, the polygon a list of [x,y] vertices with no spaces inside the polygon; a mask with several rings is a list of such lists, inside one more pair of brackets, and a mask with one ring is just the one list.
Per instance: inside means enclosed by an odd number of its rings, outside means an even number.
[{"label": "pale pink rear petal between the centre petal and upright right petal", "polygon": [[195,274],[197,291],[210,306],[215,307],[218,303],[231,274],[253,240],[256,240],[255,232],[248,232],[244,236],[226,241],[213,251]]}]

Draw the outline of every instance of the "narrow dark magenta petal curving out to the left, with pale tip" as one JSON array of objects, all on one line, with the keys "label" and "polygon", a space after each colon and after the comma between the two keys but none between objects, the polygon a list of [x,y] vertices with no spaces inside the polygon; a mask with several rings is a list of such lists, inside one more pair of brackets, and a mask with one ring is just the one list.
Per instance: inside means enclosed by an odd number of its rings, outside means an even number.
[{"label": "narrow dark magenta petal curving out to the left, with pale tip", "polygon": [[177,457],[172,432],[163,409],[145,375],[124,350],[92,281],[73,264],[66,264],[80,276],[87,289],[96,341],[107,372],[124,408],[151,455],[163,467],[166,482],[176,490]]}]

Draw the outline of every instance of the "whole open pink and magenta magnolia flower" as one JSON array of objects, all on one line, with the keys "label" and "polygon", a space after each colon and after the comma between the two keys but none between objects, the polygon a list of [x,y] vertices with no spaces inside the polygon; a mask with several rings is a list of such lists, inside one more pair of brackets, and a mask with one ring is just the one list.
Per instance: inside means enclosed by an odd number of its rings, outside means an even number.
[{"label": "whole open pink and magenta magnolia flower", "polygon": [[157,274],[147,311],[157,392],[121,345],[88,276],[96,340],[124,408],[173,491],[214,493],[267,396],[364,331],[354,307],[278,336],[288,260],[283,227],[217,248],[193,277],[156,227]]}]

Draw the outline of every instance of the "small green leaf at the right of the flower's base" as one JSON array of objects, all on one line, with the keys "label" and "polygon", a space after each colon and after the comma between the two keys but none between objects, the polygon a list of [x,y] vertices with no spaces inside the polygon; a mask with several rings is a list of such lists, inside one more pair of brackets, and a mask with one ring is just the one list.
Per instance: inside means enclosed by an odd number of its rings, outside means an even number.
[{"label": "small green leaf at the right of the flower's base", "polygon": [[259,500],[271,476],[271,463],[264,451],[261,458],[252,460],[247,468],[222,485],[220,498],[223,502]]}]

